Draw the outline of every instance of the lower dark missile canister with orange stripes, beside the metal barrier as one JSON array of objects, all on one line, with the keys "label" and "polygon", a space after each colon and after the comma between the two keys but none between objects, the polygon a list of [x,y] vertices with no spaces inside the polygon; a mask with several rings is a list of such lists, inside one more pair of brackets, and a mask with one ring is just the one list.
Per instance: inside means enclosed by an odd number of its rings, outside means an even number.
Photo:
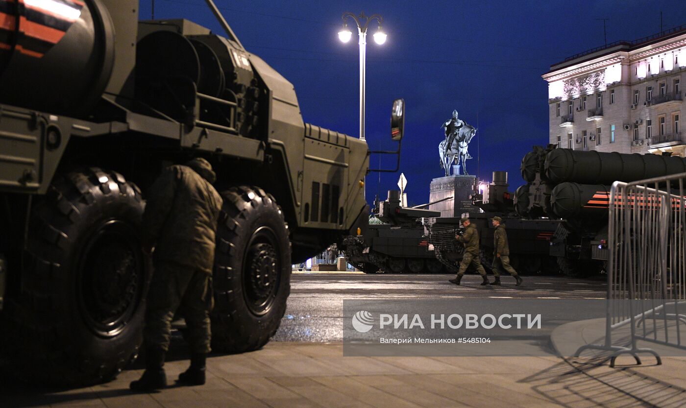
[{"label": "lower dark missile canister with orange stripes, beside the metal barrier", "polygon": [[603,184],[563,182],[555,186],[550,204],[561,218],[606,217],[610,187]]}]

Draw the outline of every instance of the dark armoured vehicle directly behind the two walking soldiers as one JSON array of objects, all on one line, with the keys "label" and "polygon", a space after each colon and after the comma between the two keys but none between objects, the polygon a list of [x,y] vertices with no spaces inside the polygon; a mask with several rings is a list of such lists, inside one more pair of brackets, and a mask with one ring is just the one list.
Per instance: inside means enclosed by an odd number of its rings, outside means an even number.
[{"label": "dark armoured vehicle directly behind the two walking soldiers", "polygon": [[[493,181],[488,184],[475,182],[472,202],[480,212],[465,213],[479,231],[481,259],[490,269],[493,263],[493,234],[491,219],[496,215],[503,219],[508,232],[510,261],[514,269],[524,274],[555,274],[554,260],[549,256],[549,241],[560,221],[522,219],[514,213],[514,201],[508,192],[505,171],[494,171]],[[436,258],[451,271],[458,270],[464,247],[455,239],[461,233],[461,217],[437,217],[429,219],[428,241],[434,248]]]}]

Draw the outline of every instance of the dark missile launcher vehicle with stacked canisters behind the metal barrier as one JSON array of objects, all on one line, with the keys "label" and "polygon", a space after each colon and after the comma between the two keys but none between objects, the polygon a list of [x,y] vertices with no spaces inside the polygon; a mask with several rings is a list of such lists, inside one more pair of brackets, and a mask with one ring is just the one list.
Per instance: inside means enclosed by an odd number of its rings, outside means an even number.
[{"label": "dark missile launcher vehicle with stacked canisters behind the metal barrier", "polygon": [[550,241],[564,274],[601,272],[608,260],[608,205],[615,180],[631,182],[686,172],[686,159],[534,146],[521,163],[527,184],[515,193],[517,213],[560,219]]}]

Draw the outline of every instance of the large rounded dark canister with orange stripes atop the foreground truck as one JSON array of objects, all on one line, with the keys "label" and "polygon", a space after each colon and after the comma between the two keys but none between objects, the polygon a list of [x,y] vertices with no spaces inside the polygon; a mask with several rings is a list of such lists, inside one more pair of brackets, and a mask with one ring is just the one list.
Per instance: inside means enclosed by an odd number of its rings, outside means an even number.
[{"label": "large rounded dark canister with orange stripes atop the foreground truck", "polygon": [[92,108],[115,62],[107,8],[93,0],[32,1],[3,15],[0,28],[10,29],[0,29],[0,103],[62,115]]}]

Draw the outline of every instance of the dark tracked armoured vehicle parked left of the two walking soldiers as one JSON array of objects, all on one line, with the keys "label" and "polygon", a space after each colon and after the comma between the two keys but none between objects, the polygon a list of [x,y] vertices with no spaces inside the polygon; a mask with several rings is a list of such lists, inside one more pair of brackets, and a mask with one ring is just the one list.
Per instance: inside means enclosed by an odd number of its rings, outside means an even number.
[{"label": "dark tracked armoured vehicle parked left of the two walking soldiers", "polygon": [[401,206],[400,191],[389,190],[387,200],[375,200],[366,233],[345,237],[342,250],[348,263],[366,274],[445,272],[428,248],[422,223],[438,216],[438,211]]}]

